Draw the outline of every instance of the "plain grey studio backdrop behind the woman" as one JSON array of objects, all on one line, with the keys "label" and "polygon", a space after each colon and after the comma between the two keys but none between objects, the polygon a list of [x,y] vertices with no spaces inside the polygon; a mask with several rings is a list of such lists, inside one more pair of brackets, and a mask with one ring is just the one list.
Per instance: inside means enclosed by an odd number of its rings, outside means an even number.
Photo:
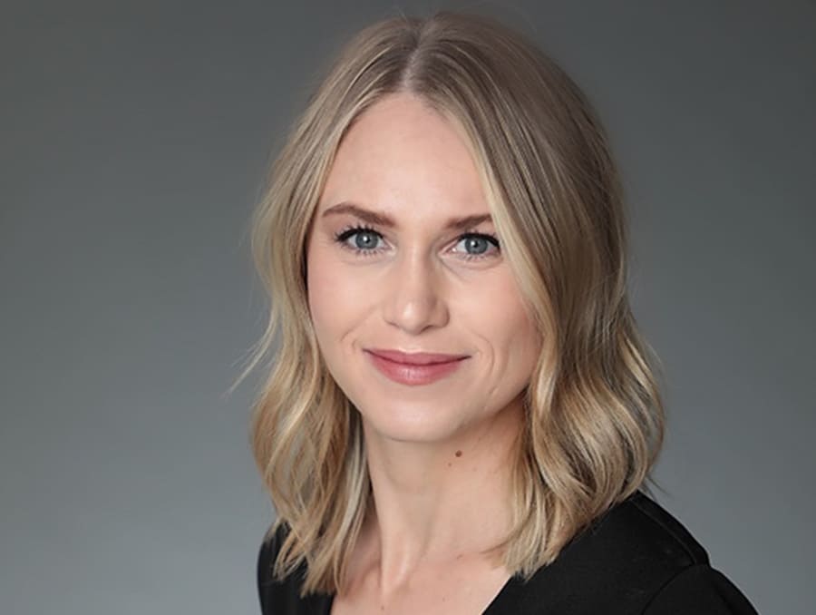
[{"label": "plain grey studio backdrop behind the woman", "polygon": [[[660,501],[811,613],[816,8],[502,4],[607,123],[670,413]],[[246,229],[337,44],[476,3],[4,2],[0,611],[257,612]]]}]

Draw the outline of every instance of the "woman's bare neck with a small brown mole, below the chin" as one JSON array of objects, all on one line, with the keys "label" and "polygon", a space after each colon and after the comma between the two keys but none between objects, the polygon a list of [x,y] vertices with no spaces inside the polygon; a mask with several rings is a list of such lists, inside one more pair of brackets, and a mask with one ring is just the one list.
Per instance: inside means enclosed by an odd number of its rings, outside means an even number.
[{"label": "woman's bare neck with a small brown mole, below the chin", "polygon": [[421,562],[443,564],[503,542],[522,421],[519,403],[438,443],[397,442],[364,423],[374,507],[360,546],[383,585],[404,581]]}]

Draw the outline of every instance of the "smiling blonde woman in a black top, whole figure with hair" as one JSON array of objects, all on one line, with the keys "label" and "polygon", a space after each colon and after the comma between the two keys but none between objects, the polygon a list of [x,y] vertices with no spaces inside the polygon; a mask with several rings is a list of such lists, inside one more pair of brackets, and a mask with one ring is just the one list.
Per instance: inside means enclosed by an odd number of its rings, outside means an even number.
[{"label": "smiling blonde woman in a black top, whole figure with hair", "polygon": [[358,34],[253,229],[264,613],[755,612],[640,491],[663,416],[617,171],[519,34]]}]

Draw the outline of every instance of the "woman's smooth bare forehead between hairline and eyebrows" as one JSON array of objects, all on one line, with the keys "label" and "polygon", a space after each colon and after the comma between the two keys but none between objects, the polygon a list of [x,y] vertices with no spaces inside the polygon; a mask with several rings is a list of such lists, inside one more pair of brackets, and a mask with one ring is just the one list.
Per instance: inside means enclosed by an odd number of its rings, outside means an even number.
[{"label": "woman's smooth bare forehead between hairline and eyebrows", "polygon": [[461,127],[408,93],[374,103],[346,132],[318,210],[343,201],[397,217],[487,211]]}]

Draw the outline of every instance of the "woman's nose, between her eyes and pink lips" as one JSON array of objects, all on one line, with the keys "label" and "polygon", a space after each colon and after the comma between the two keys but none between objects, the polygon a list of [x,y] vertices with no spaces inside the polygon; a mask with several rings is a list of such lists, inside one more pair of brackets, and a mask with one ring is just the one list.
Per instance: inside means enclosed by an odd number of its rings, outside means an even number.
[{"label": "woman's nose, between her eyes and pink lips", "polygon": [[385,282],[383,317],[393,327],[417,335],[444,327],[449,313],[436,263],[419,251],[397,259]]}]

